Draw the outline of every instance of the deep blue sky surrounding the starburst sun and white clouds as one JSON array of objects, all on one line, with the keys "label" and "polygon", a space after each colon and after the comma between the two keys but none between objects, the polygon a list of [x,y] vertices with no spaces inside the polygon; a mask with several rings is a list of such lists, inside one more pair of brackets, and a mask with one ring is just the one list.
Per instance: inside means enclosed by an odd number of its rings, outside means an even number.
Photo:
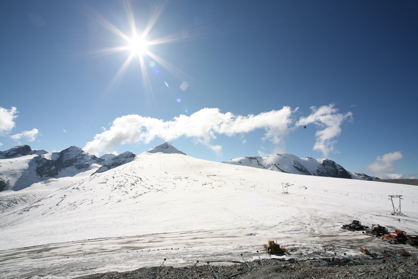
[{"label": "deep blue sky surrounding the starburst sun and white clouds", "polygon": [[[127,6],[138,31],[162,10],[147,39],[175,39],[148,47],[174,72],[143,56],[148,88],[137,57],[112,82],[130,52],[103,52],[127,44],[105,21],[132,36]],[[119,145],[102,152],[139,154],[169,140],[214,161],[281,152],[330,157],[350,171],[418,176],[417,1],[1,1],[0,34],[0,107],[9,115],[17,110],[14,127],[0,123],[0,150],[83,148],[126,115],[167,122],[205,108],[247,117],[289,106],[280,144],[263,140],[258,123],[249,132],[204,135],[206,142],[181,133],[145,140],[114,132]],[[313,150],[325,126],[297,125],[312,106],[346,116],[325,154]],[[33,137],[19,136],[24,131]],[[131,143],[122,144],[127,138]],[[221,155],[210,149],[218,145]],[[367,169],[378,156],[378,167]]]}]

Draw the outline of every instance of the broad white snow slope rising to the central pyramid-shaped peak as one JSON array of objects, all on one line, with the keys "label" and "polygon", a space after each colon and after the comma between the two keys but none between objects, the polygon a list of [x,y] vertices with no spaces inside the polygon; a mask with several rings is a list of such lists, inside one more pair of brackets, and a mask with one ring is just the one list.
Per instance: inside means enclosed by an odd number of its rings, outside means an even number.
[{"label": "broad white snow slope rising to the central pyramid-shaped peak", "polygon": [[[64,167],[57,178],[0,191],[1,249],[31,247],[27,256],[7,257],[0,274],[74,278],[83,275],[77,262],[87,262],[84,274],[123,271],[144,264],[155,266],[166,257],[179,262],[179,252],[185,257],[183,264],[196,259],[205,262],[208,254],[216,255],[210,261],[229,259],[233,254],[239,259],[242,251],[252,251],[258,258],[255,251],[269,239],[305,254],[336,251],[356,255],[358,247],[365,245],[385,248],[387,244],[381,240],[340,229],[353,219],[418,234],[416,186],[211,162],[187,156],[168,144],[149,151],[130,161],[131,155],[122,155],[120,160],[125,158],[125,163],[103,172],[96,172],[101,167],[97,158],[77,148],[70,148],[69,154],[43,155],[47,160],[62,157],[57,167],[73,161],[80,169]],[[0,162],[23,165],[36,156]],[[72,160],[75,157],[78,159]],[[117,156],[109,157],[107,160]],[[60,177],[68,168],[84,171]],[[37,176],[36,168],[32,175]],[[292,186],[282,193],[281,183],[287,182]],[[390,215],[392,205],[387,197],[396,192],[403,195],[401,216]],[[36,198],[27,198],[30,194]],[[51,245],[32,255],[33,246],[46,244]],[[25,249],[19,249],[19,255]],[[41,250],[47,253],[43,255]],[[267,253],[263,256],[269,257]],[[69,262],[75,264],[67,265]],[[54,272],[49,265],[60,266],[60,273],[54,277],[36,271],[43,266]]]}]

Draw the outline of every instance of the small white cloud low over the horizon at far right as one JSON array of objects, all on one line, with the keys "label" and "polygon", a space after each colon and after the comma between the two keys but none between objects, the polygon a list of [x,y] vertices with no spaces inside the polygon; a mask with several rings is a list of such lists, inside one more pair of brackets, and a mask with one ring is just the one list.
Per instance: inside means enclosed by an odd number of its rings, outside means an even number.
[{"label": "small white cloud low over the horizon at far right", "polygon": [[402,178],[403,175],[395,174],[396,168],[393,164],[402,158],[400,151],[387,153],[383,156],[377,156],[376,161],[369,164],[366,168],[373,175],[380,178]]}]

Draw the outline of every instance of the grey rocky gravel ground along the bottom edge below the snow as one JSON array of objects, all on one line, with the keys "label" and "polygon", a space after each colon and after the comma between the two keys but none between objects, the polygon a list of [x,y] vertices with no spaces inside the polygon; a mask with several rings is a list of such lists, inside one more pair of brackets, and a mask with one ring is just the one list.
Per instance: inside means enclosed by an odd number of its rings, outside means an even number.
[{"label": "grey rocky gravel ground along the bottom edge below the snow", "polygon": [[[173,268],[162,266],[141,268],[128,272],[92,274],[77,279],[416,279],[418,278],[418,256],[383,259],[363,258],[347,263],[325,263],[323,261],[280,261],[274,259],[216,265],[197,263],[194,267]],[[365,261],[367,260],[367,261]],[[373,262],[371,262],[373,261]],[[361,262],[362,264],[358,264]],[[156,271],[156,272],[155,272]],[[155,273],[154,273],[155,272]],[[187,272],[187,273],[186,273]],[[154,273],[154,276],[151,275]]]}]

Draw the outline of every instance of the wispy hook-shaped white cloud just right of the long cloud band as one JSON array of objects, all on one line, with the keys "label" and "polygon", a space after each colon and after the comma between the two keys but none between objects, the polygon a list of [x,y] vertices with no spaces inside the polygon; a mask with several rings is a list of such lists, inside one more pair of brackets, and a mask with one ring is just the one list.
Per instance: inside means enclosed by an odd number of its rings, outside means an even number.
[{"label": "wispy hook-shaped white cloud just right of the long cloud band", "polygon": [[324,156],[334,151],[334,145],[337,142],[335,138],[341,134],[341,125],[346,120],[351,120],[353,114],[338,113],[334,104],[328,106],[311,107],[312,113],[307,117],[301,117],[296,126],[315,124],[320,129],[316,132],[316,142],[313,150],[320,151]]}]

